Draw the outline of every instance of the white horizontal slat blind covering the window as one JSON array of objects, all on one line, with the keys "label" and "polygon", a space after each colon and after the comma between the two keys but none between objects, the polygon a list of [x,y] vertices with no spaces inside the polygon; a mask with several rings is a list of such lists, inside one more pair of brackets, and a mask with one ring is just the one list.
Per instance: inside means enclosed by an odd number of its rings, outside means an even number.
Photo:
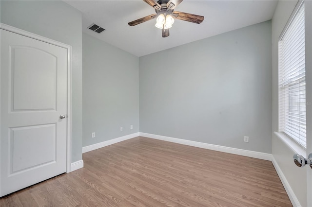
[{"label": "white horizontal slat blind covering the window", "polygon": [[279,131],[306,148],[304,3],[278,42]]}]

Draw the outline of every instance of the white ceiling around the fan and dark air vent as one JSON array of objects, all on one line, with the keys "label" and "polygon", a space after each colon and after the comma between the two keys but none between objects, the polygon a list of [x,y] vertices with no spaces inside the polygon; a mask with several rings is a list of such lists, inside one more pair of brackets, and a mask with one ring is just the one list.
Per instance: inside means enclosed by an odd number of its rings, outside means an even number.
[{"label": "white ceiling around the fan and dark air vent", "polygon": [[[134,27],[128,22],[155,14],[143,0],[66,0],[82,12],[82,32],[136,56],[166,50],[199,39],[246,27],[273,17],[275,0],[184,0],[176,11],[204,16],[201,24],[176,19],[170,36],[163,38],[156,19]],[[106,29],[89,29],[92,23]]]}]

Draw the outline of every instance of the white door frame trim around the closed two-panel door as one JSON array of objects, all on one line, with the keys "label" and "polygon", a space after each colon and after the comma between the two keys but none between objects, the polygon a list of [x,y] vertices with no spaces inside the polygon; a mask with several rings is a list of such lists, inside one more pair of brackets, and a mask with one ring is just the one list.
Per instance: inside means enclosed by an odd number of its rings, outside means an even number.
[{"label": "white door frame trim around the closed two-panel door", "polygon": [[[19,35],[27,36],[32,39],[36,39],[42,42],[46,42],[67,50],[67,152],[66,152],[66,173],[71,172],[71,160],[72,160],[72,46],[36,35],[7,24],[0,23],[0,29],[13,32]],[[1,98],[1,97],[0,97]],[[1,115],[1,114],[0,114]],[[1,166],[1,165],[0,165]],[[0,179],[1,183],[1,179]],[[1,189],[0,189],[1,190]]]}]

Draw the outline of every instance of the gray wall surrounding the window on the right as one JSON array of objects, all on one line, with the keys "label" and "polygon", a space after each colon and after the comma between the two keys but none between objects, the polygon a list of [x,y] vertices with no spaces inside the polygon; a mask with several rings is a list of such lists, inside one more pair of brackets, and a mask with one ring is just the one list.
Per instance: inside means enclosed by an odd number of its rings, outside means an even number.
[{"label": "gray wall surrounding the window on the right", "polygon": [[[278,132],[278,38],[296,3],[296,0],[278,1],[272,18],[272,133]],[[305,207],[307,206],[307,171],[294,165],[292,159],[294,153],[297,152],[294,152],[275,134],[272,134],[273,157],[301,206]],[[298,177],[300,177],[300,182],[298,182]]]}]

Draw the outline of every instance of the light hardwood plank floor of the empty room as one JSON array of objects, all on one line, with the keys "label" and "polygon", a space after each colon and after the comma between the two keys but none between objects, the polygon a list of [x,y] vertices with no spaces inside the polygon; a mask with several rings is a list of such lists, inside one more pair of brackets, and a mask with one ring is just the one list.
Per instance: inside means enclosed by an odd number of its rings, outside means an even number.
[{"label": "light hardwood plank floor of the empty room", "polygon": [[270,161],[137,137],[84,168],[4,196],[1,207],[291,207]]}]

